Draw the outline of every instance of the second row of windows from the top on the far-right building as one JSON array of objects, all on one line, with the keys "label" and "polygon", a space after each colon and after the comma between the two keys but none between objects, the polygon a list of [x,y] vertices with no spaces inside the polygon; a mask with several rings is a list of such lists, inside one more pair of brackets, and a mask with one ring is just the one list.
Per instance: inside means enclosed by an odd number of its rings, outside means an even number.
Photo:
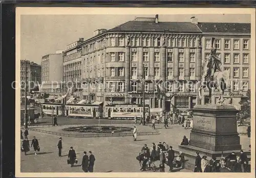
[{"label": "second row of windows from the top on the far-right building", "polygon": [[[230,59],[231,59],[231,54],[230,53],[224,53],[224,57],[221,57],[221,54],[217,54],[217,56],[225,63],[225,64],[230,64]],[[210,57],[210,53],[205,53],[205,58],[209,58]],[[241,61],[241,55],[238,53],[234,53],[233,54],[233,63],[234,64],[239,64]],[[249,54],[244,53],[242,54],[242,63],[244,64],[248,64],[249,63]]]}]

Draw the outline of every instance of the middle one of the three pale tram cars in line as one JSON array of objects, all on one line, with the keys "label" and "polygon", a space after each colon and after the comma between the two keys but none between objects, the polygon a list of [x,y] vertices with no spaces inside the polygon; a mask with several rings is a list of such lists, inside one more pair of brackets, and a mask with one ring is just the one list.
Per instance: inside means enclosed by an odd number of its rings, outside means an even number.
[{"label": "middle one of the three pale tram cars in line", "polygon": [[78,118],[102,118],[101,104],[66,104],[65,115]]}]

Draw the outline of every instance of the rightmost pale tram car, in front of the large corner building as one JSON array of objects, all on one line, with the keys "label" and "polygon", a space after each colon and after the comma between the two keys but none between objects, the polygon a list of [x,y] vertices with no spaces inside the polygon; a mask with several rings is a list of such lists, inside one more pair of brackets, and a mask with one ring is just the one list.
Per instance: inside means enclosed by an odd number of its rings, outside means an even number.
[{"label": "rightmost pale tram car, in front of the large corner building", "polygon": [[[116,104],[106,105],[105,118],[111,119],[129,119],[141,117],[143,115],[142,104]],[[145,105],[145,114],[150,114],[149,105]]]}]

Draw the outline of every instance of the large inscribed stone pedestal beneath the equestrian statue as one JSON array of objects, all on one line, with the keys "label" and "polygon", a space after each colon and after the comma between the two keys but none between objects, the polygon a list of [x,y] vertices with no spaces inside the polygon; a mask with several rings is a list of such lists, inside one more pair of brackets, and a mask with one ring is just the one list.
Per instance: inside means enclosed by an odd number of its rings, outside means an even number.
[{"label": "large inscribed stone pedestal beneath the equestrian statue", "polygon": [[226,156],[232,151],[240,152],[240,137],[237,131],[238,110],[232,104],[195,105],[193,129],[189,145],[179,146],[186,157],[195,158],[196,151],[208,158]]}]

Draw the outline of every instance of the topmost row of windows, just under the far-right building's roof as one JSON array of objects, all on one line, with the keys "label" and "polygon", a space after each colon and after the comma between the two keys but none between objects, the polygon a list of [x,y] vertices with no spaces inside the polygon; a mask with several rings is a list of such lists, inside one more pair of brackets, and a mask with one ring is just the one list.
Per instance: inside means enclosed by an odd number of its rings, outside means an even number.
[{"label": "topmost row of windows, just under the far-right building's roof", "polygon": [[[222,39],[215,39],[214,41],[214,46],[217,49],[223,48],[224,50],[240,50],[240,39],[233,39],[233,47],[231,48],[231,39],[224,39],[222,42]],[[248,50],[249,49],[249,39],[243,39],[243,50]],[[205,49],[211,49],[211,39],[205,39]]]}]

